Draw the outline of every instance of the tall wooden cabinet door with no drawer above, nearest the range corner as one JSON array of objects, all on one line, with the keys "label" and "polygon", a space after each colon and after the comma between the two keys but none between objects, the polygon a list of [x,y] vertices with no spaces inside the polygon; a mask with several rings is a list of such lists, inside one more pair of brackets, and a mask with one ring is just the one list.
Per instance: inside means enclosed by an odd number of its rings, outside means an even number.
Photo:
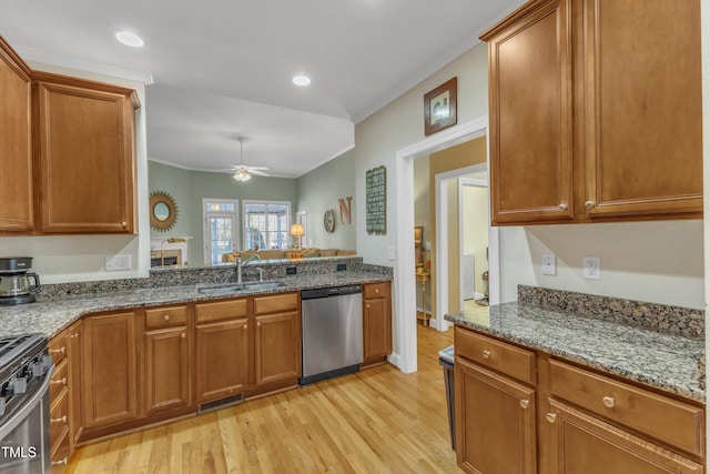
[{"label": "tall wooden cabinet door with no drawer above, nearest the range corner", "polygon": [[83,333],[84,427],[138,418],[135,314],[85,317]]}]

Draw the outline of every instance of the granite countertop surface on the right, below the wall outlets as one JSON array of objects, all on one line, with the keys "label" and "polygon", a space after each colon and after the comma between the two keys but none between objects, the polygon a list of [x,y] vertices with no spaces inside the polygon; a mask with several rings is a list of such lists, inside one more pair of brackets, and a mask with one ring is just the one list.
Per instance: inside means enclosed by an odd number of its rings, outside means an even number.
[{"label": "granite countertop surface on the right, below the wall outlets", "polygon": [[704,403],[704,342],[525,303],[445,319],[481,333]]}]

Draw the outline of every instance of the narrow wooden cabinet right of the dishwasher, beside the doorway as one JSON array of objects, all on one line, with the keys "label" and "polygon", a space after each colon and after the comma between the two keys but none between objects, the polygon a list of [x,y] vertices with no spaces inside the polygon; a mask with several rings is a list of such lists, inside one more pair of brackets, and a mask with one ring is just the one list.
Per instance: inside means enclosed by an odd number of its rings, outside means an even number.
[{"label": "narrow wooden cabinet right of the dishwasher, beside the doorway", "polygon": [[363,285],[363,352],[364,366],[384,362],[392,354],[390,282]]}]

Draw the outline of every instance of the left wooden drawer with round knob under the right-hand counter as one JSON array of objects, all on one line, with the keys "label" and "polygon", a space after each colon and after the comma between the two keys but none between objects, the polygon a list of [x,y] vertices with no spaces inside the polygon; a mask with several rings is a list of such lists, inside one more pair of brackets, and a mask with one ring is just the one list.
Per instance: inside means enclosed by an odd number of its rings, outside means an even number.
[{"label": "left wooden drawer with round knob under the right-hand counter", "polygon": [[496,341],[473,331],[455,327],[456,355],[535,385],[535,352]]}]

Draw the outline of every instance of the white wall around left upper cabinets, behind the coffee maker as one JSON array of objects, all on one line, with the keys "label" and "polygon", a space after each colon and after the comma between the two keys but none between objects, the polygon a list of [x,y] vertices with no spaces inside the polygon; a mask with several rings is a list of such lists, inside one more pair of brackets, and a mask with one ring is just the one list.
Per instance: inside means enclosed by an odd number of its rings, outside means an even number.
[{"label": "white wall around left upper cabinets, behind the coffee maker", "polygon": [[[33,256],[41,283],[63,283],[148,276],[150,221],[148,216],[148,152],[145,138],[145,87],[142,82],[29,62],[38,71],[126,85],[136,90],[141,108],[135,114],[135,169],[138,235],[50,235],[0,238],[0,256]],[[91,179],[91,177],[87,177]],[[104,256],[131,255],[132,270],[105,272]]]}]

